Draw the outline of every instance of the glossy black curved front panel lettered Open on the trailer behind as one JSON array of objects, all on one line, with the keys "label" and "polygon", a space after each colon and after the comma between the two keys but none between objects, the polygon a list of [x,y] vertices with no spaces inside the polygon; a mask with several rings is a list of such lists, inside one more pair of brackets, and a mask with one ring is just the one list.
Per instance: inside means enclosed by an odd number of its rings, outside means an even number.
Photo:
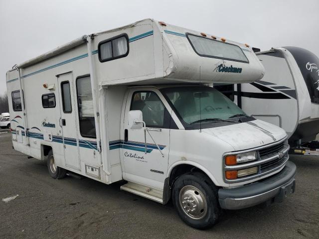
[{"label": "glossy black curved front panel lettered Open on the trailer behind", "polygon": [[319,104],[319,58],[312,52],[299,48],[285,47],[294,56],[306,82],[312,103]]}]

